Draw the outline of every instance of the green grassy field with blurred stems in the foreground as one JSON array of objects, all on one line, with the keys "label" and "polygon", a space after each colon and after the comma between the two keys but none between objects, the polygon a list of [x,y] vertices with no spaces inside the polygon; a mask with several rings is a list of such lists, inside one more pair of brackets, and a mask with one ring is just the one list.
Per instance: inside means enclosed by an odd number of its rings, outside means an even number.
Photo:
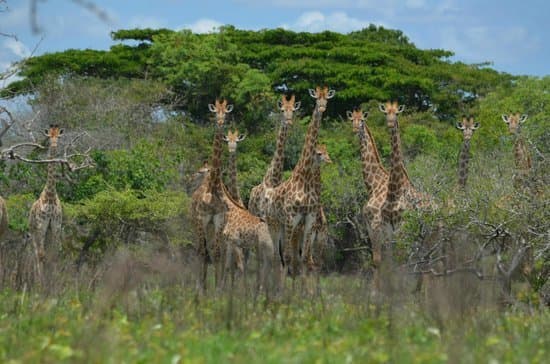
[{"label": "green grassy field with blurred stems in the foreground", "polygon": [[241,285],[197,296],[191,279],[136,279],[133,272],[106,274],[93,288],[73,277],[49,291],[2,291],[0,362],[543,363],[550,357],[547,309],[472,307],[441,316],[408,293],[377,307],[364,277],[343,275],[323,277],[320,294],[289,288],[268,303]]}]

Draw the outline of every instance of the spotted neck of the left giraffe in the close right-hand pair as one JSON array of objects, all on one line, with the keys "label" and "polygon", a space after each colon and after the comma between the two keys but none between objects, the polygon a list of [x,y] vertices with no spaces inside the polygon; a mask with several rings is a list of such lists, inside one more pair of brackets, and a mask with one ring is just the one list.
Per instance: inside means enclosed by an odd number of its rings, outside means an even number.
[{"label": "spotted neck of the left giraffe in the close right-hand pair", "polygon": [[359,129],[359,145],[361,148],[361,162],[363,163],[363,180],[367,193],[370,195],[380,184],[387,182],[388,171],[382,165],[378,149],[374,144],[374,138],[364,123]]}]

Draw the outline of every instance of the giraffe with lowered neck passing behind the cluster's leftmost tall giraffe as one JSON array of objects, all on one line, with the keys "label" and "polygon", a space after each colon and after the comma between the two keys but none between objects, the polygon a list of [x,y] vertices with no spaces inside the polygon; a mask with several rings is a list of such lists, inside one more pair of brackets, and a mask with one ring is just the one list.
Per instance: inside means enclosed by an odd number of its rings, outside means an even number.
[{"label": "giraffe with lowered neck passing behind the cluster's leftmost tall giraffe", "polygon": [[[193,175],[192,180],[195,181],[195,184],[204,183],[210,171],[211,167],[208,163],[204,163]],[[278,262],[269,227],[266,222],[252,215],[242,205],[238,204],[223,185],[221,196],[227,207],[225,225],[222,231],[226,248],[224,249],[225,261],[221,285],[222,287],[225,285],[228,276],[230,276],[233,284],[235,267],[241,272],[245,270],[242,260],[243,252],[255,251],[258,263],[256,289],[259,292],[263,288],[265,294],[269,295],[273,287],[274,274],[272,274],[272,270],[274,263]]]}]

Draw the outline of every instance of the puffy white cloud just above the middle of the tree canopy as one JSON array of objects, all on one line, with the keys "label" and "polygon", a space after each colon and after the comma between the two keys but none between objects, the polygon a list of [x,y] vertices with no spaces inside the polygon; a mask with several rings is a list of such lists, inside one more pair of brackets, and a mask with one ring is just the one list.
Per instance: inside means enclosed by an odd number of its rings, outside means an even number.
[{"label": "puffy white cloud just above the middle of the tree canopy", "polygon": [[303,13],[292,24],[283,24],[282,27],[296,31],[320,32],[332,30],[340,33],[349,33],[367,27],[371,22],[350,17],[344,12],[334,12],[324,15],[320,11]]}]

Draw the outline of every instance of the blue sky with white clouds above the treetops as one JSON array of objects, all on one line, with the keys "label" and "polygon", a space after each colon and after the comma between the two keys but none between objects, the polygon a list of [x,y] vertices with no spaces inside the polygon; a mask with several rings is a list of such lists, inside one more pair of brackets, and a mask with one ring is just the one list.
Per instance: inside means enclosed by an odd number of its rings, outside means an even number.
[{"label": "blue sky with white clouds above the treetops", "polygon": [[[490,61],[512,74],[550,74],[547,0],[42,0],[37,2],[41,34],[31,30],[29,0],[4,2],[8,9],[0,12],[0,32],[18,40],[0,37],[0,70],[34,48],[35,54],[108,49],[114,44],[109,33],[116,29],[208,32],[232,24],[347,33],[372,23],[402,30],[419,48],[451,50],[455,60]],[[109,20],[82,3],[95,4]]]}]

